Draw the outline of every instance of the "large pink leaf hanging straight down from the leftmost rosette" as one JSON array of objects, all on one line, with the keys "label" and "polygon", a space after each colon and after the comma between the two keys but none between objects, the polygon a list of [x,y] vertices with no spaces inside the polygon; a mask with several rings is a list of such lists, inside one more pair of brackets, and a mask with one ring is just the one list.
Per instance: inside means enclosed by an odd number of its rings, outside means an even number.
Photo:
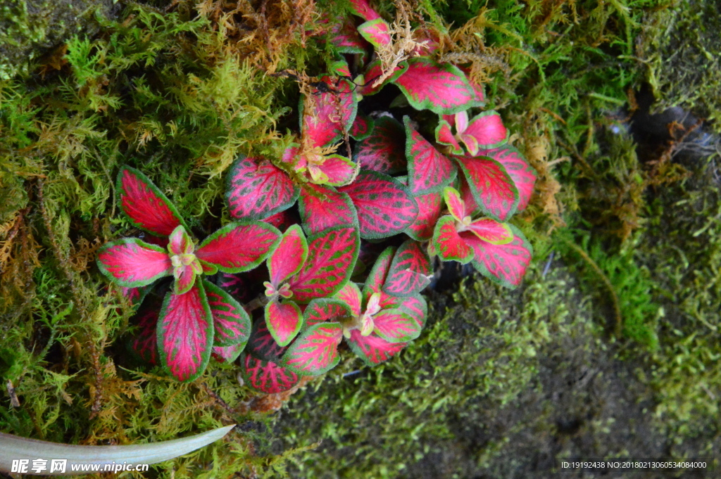
[{"label": "large pink leaf hanging straight down from the leftmost rosette", "polygon": [[183,295],[165,295],[158,321],[158,349],[164,367],[180,381],[197,379],[213,349],[213,315],[203,282]]}]

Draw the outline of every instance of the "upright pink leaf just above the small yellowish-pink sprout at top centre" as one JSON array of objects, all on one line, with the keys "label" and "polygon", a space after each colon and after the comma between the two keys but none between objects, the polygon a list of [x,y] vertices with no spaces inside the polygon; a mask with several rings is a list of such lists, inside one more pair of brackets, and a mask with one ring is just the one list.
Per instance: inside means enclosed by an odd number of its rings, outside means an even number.
[{"label": "upright pink leaf just above the small yellowish-pink sprout at top centre", "polygon": [[355,84],[347,79],[323,76],[323,90],[301,99],[301,131],[310,148],[326,147],[340,140],[353,125],[358,112]]}]

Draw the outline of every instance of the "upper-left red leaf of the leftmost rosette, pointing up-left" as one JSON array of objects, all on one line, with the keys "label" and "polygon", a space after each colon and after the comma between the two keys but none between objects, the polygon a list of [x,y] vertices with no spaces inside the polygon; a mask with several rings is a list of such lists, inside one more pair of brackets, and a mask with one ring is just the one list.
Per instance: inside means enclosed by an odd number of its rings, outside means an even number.
[{"label": "upper-left red leaf of the leftmost rosette, pointing up-left", "polygon": [[185,225],[167,197],[140,171],[125,166],[118,173],[118,204],[134,226],[157,236],[169,236]]}]

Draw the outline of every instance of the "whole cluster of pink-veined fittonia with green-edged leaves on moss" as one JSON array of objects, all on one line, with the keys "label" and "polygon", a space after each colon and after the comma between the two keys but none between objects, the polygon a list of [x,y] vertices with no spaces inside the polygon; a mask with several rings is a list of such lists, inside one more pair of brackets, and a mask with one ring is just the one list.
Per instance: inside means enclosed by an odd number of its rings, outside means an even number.
[{"label": "whole cluster of pink-veined fittonia with green-edged leaves on moss", "polygon": [[[528,205],[535,171],[500,115],[482,110],[468,66],[434,57],[438,35],[416,32],[413,48],[398,51],[366,0],[350,4],[348,17],[326,23],[329,71],[288,75],[303,83],[290,146],[231,166],[226,205],[236,222],[196,246],[145,176],[120,172],[125,214],[169,242],[115,241],[98,263],[125,287],[174,277],[159,321],[147,310],[141,318],[146,329],[157,321],[159,357],[180,380],[203,372],[213,345],[227,361],[244,349],[250,320],[231,295],[257,310],[243,375],[277,393],[335,367],[343,344],[374,365],[417,338],[433,257],[521,284],[531,246],[509,221]],[[266,257],[267,274],[248,272]],[[204,279],[216,272],[221,287]],[[154,351],[152,338],[136,342]]]}]

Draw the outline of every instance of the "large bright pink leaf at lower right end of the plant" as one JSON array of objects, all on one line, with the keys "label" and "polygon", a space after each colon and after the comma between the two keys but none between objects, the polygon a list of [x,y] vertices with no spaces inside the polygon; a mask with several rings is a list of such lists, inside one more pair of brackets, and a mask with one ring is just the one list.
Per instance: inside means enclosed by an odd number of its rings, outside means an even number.
[{"label": "large bright pink leaf at lower right end of the plant", "polygon": [[468,231],[461,235],[474,250],[473,266],[485,277],[513,289],[521,284],[533,249],[521,230],[509,226],[513,230],[513,241],[507,244],[487,243]]}]

